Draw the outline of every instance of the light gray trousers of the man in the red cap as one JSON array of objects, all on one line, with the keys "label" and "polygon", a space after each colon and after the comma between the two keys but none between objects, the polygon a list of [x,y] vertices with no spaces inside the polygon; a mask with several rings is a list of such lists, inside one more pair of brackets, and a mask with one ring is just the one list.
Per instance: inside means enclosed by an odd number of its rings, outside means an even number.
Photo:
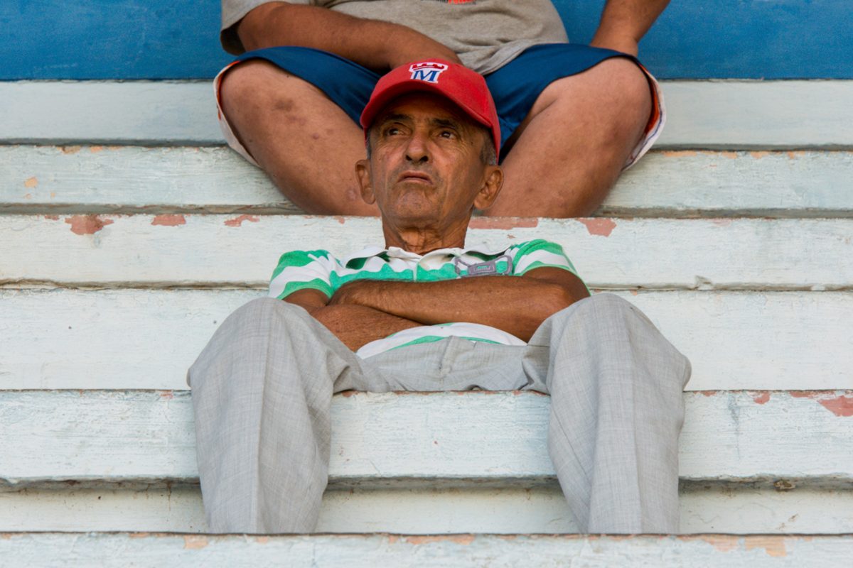
[{"label": "light gray trousers of the man in the red cap", "polygon": [[301,307],[251,301],[188,374],[207,523],[216,532],[314,530],[333,393],[481,388],[551,395],[548,452],[581,531],[677,532],[689,376],[688,359],[615,295],[555,313],[524,347],[451,337],[368,359]]}]

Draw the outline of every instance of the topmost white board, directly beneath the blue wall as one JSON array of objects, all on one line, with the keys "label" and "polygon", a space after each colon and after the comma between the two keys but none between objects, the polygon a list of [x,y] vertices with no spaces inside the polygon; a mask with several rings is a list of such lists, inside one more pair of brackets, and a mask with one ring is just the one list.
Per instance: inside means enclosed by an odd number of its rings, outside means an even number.
[{"label": "topmost white board, directly beneath the blue wall", "polygon": [[[659,147],[853,146],[853,81],[664,81]],[[221,144],[209,81],[0,83],[6,143]]]}]

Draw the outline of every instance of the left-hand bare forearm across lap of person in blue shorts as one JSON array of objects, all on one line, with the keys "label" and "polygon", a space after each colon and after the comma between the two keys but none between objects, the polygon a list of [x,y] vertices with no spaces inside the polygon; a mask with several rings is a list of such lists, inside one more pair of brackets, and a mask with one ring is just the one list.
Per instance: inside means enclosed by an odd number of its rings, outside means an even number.
[{"label": "left-hand bare forearm across lap of person in blue shorts", "polygon": [[428,57],[459,61],[453,51],[409,27],[316,6],[263,4],[241,20],[237,34],[247,50],[278,45],[322,49],[377,72]]}]

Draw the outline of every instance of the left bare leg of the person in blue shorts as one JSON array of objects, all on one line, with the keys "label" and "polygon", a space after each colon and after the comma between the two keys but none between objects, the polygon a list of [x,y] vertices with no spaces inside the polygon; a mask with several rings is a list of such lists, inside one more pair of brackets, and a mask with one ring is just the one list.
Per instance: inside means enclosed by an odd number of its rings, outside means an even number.
[{"label": "left bare leg of the person in blue shorts", "polygon": [[362,129],[320,89],[249,60],[225,75],[221,94],[235,135],[293,204],[322,215],[379,215],[358,190]]}]

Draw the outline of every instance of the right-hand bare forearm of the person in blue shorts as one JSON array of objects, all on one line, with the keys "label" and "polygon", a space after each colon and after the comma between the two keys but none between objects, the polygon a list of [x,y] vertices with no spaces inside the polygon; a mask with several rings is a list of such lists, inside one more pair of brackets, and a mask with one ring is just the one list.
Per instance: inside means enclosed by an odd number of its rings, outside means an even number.
[{"label": "right-hand bare forearm of the person in blue shorts", "polygon": [[641,38],[670,0],[607,0],[589,45],[637,55]]}]

